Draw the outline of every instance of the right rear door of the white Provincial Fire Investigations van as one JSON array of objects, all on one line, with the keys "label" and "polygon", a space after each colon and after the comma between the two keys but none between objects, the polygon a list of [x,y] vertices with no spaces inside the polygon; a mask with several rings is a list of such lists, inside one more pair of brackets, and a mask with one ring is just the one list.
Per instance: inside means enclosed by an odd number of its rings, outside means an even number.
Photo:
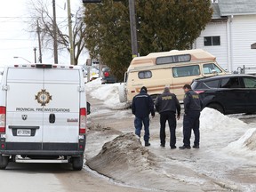
[{"label": "right rear door of the white Provincial Fire Investigations van", "polygon": [[77,150],[80,73],[76,68],[44,69],[44,150]]}]

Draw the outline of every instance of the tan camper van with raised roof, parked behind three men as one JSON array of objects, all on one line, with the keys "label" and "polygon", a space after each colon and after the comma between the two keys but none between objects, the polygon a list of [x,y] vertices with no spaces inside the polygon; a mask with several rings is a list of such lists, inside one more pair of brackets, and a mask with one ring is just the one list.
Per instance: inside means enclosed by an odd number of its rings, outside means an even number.
[{"label": "tan camper van with raised roof, parked behind three men", "polygon": [[216,57],[201,49],[171,52],[153,52],[132,60],[119,86],[121,102],[132,102],[142,86],[156,99],[164,86],[169,86],[179,100],[183,100],[184,84],[204,76],[224,75],[227,72],[216,62]]}]

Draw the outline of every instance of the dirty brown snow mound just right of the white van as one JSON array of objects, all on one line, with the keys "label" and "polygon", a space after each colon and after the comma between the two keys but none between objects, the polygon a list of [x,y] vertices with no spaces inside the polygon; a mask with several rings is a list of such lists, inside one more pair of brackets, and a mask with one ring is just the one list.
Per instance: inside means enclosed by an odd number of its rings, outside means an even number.
[{"label": "dirty brown snow mound just right of the white van", "polygon": [[119,179],[122,179],[123,175],[132,174],[132,170],[138,172],[152,168],[155,162],[156,156],[142,147],[133,133],[125,133],[105,143],[100,153],[86,164],[108,177],[116,178],[118,174]]}]

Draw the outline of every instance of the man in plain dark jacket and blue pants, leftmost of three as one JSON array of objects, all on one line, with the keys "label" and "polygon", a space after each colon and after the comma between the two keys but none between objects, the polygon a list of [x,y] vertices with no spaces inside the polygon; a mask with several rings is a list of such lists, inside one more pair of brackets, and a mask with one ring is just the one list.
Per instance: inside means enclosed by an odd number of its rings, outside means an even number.
[{"label": "man in plain dark jacket and blue pants, leftmost of three", "polygon": [[132,99],[132,114],[135,115],[134,126],[135,134],[140,137],[140,131],[142,129],[142,123],[144,124],[144,141],[145,146],[150,146],[149,143],[149,114],[155,116],[154,102],[147,93],[145,86],[141,87],[140,94],[136,95]]}]

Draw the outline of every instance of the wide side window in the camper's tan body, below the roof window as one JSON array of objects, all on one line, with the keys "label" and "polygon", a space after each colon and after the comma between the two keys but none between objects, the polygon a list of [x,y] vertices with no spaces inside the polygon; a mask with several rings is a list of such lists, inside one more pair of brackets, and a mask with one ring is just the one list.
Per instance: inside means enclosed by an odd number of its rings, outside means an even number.
[{"label": "wide side window in the camper's tan body, below the roof window", "polygon": [[172,75],[174,77],[198,76],[200,75],[199,66],[194,65],[194,66],[175,67],[175,68],[172,68]]}]

